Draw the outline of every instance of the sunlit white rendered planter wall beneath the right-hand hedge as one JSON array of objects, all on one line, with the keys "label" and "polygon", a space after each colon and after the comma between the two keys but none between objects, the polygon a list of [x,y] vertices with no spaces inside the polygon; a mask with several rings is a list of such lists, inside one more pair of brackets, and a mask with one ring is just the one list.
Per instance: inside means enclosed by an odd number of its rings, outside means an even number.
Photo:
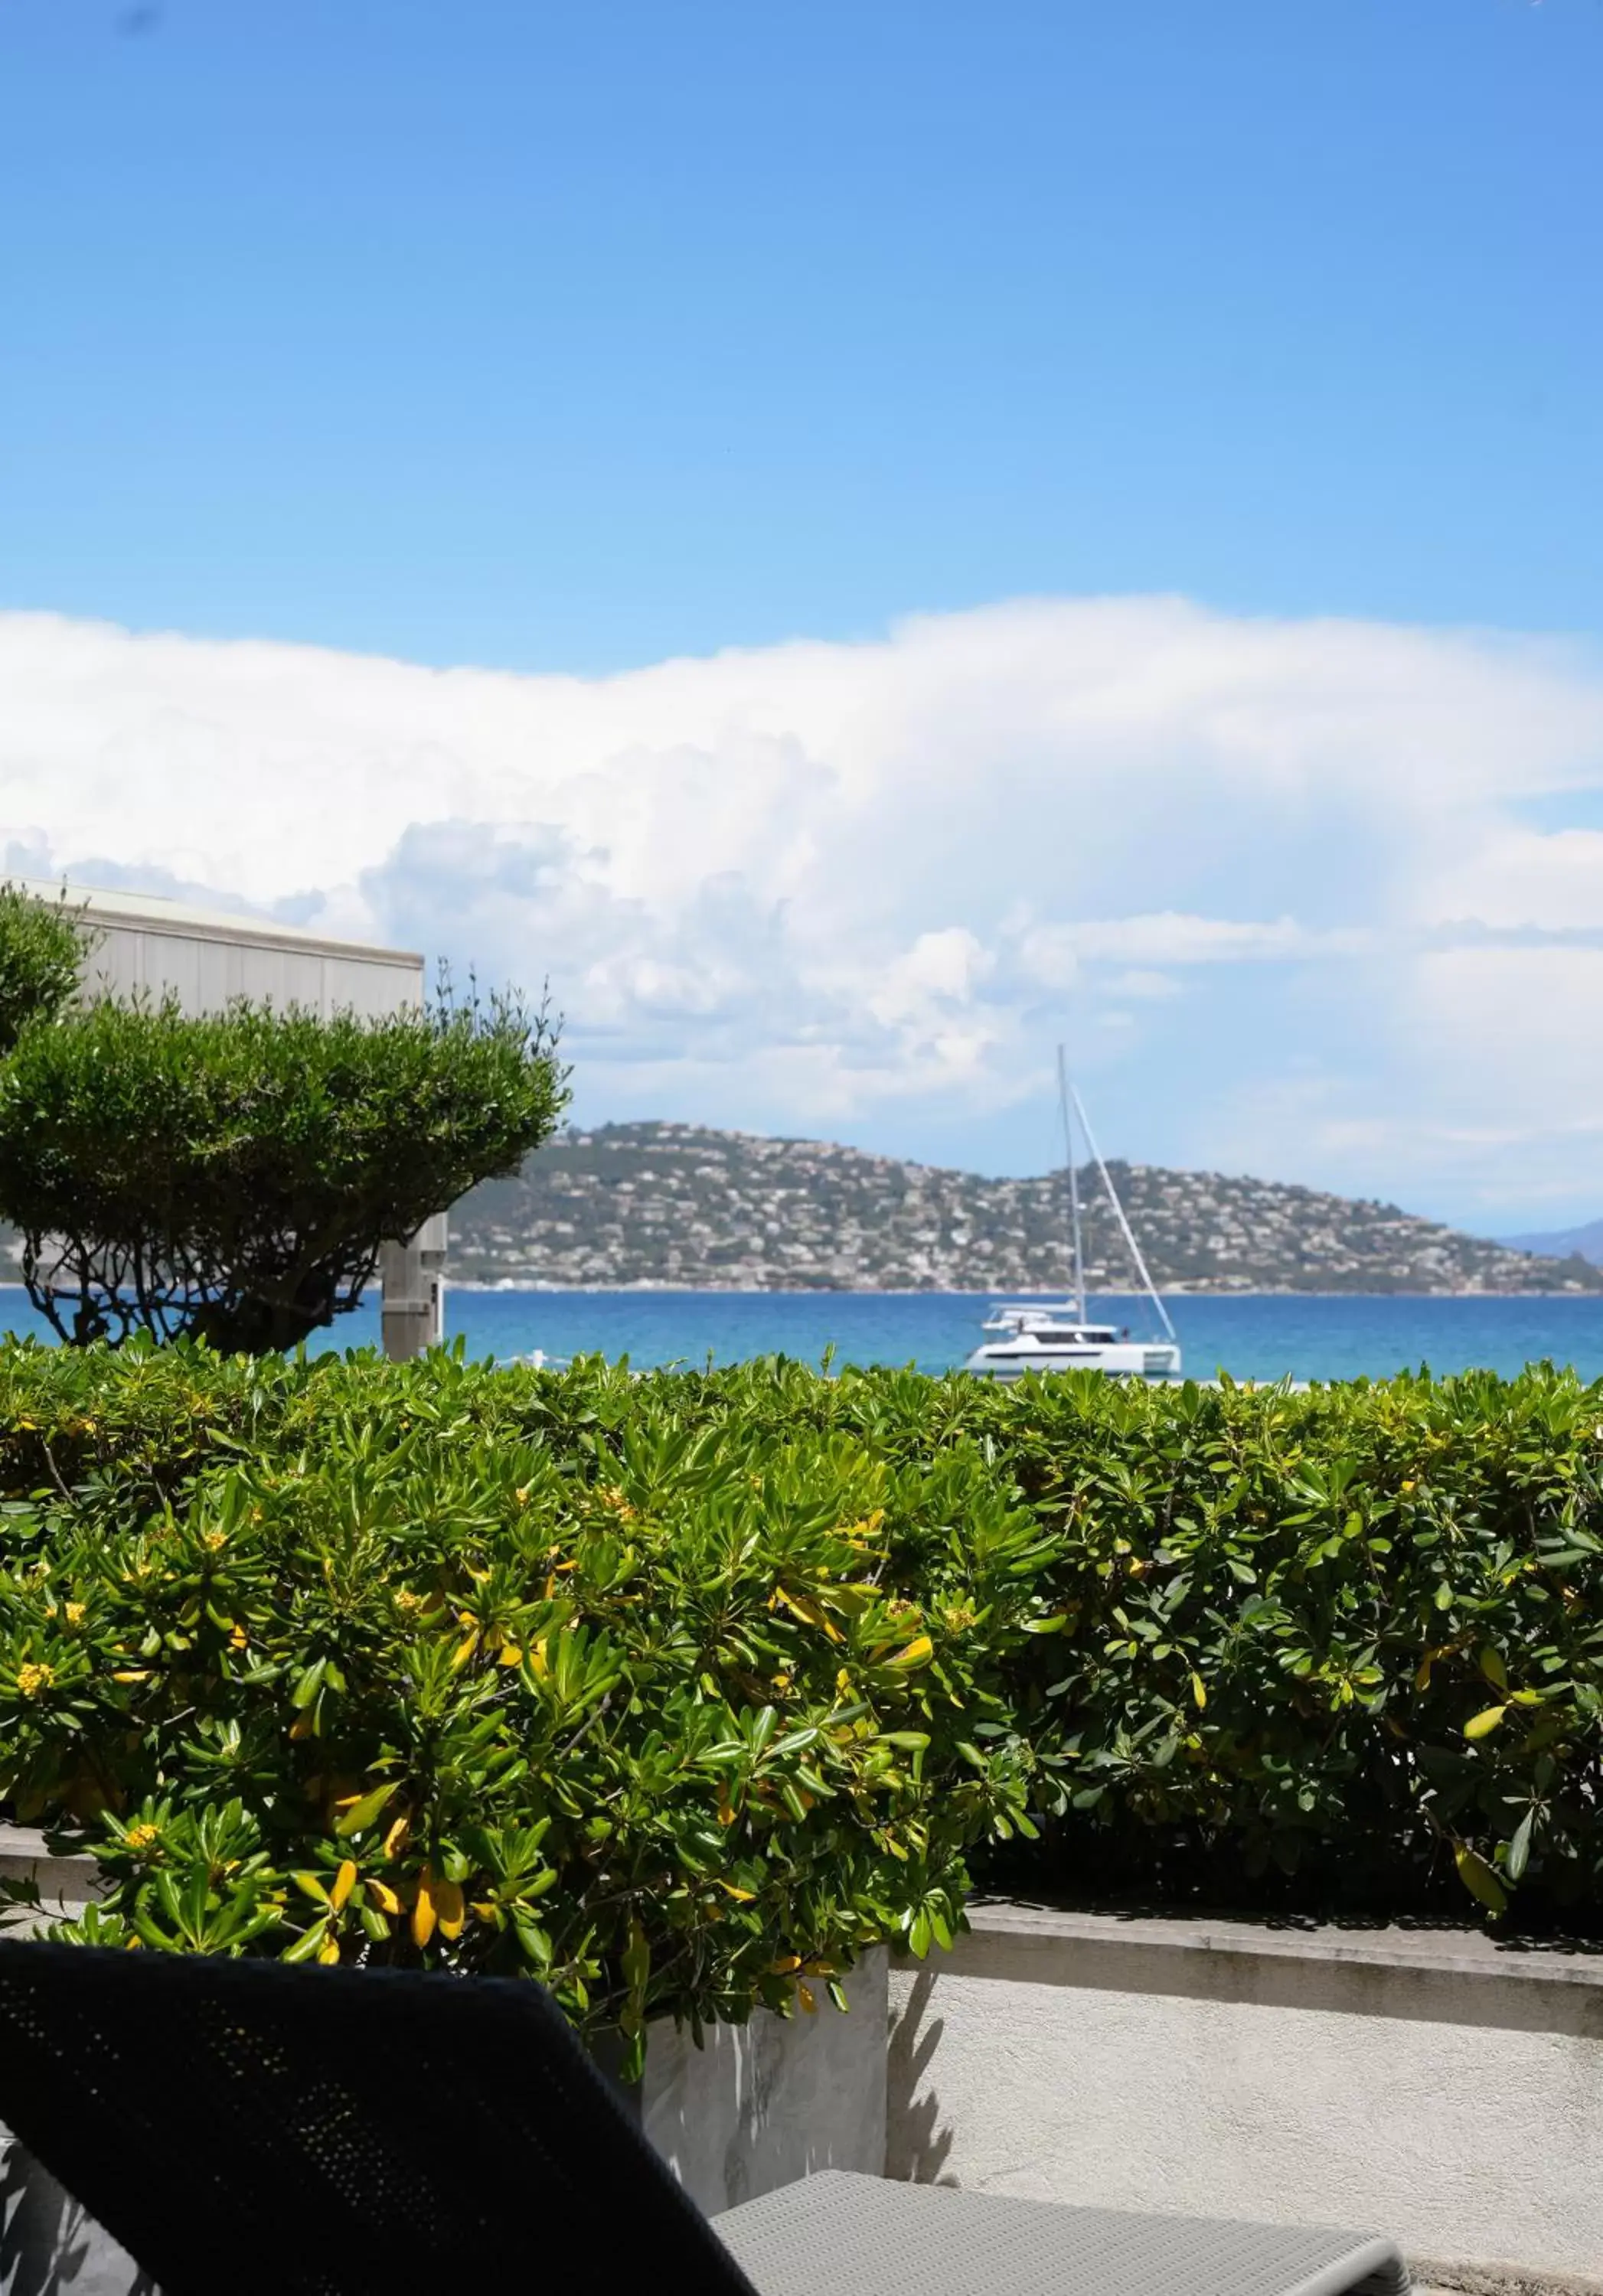
[{"label": "sunlit white rendered planter wall beneath the right-hand hedge", "polygon": [[1603,2280],[1603,1956],[1022,1906],[971,1922],[891,1972],[889,2174],[1373,2225],[1456,2287]]}]

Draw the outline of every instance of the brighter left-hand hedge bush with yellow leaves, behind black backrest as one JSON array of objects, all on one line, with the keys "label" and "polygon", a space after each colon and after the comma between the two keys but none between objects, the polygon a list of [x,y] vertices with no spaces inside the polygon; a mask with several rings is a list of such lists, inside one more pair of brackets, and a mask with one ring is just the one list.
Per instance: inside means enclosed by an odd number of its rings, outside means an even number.
[{"label": "brighter left-hand hedge bush with yellow leaves, behind black backrest", "polygon": [[1050,1543],[976,1444],[448,1357],[5,1389],[2,1782],[110,1871],[83,1936],[528,1970],[638,2034],[946,1942],[1029,1823]]}]

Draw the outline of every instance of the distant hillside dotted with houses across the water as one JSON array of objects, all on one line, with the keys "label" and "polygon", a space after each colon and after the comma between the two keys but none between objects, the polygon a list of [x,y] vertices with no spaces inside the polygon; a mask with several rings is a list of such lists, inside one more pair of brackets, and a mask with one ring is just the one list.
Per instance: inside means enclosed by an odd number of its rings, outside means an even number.
[{"label": "distant hillside dotted with houses across the water", "polygon": [[[1603,1267],[1281,1180],[1112,1164],[1155,1281],[1190,1293],[1603,1293]],[[1086,1281],[1128,1290],[1095,1173]],[[567,1132],[450,1215],[464,1283],[689,1290],[1052,1290],[1063,1173],[988,1180],[703,1125]]]}]

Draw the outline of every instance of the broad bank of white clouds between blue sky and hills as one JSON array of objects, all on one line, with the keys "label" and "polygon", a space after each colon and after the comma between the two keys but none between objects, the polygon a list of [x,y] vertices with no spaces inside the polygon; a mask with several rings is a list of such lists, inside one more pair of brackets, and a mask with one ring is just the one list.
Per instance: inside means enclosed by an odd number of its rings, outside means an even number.
[{"label": "broad bank of white clouds between blue sky and hills", "polygon": [[11,868],[549,976],[593,1116],[1029,1166],[1068,1033],[1130,1155],[1603,1194],[1575,647],[1038,599],[576,680],[14,613],[0,677]]}]

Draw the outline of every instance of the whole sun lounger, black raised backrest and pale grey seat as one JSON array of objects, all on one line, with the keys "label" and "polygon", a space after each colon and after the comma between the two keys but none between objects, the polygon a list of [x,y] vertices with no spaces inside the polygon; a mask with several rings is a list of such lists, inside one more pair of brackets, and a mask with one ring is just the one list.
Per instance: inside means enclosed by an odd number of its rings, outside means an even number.
[{"label": "whole sun lounger, black raised backrest and pale grey seat", "polygon": [[877,2177],[710,2223],[524,1981],[0,1942],[0,2122],[161,2296],[1408,2291],[1357,2234]]}]

